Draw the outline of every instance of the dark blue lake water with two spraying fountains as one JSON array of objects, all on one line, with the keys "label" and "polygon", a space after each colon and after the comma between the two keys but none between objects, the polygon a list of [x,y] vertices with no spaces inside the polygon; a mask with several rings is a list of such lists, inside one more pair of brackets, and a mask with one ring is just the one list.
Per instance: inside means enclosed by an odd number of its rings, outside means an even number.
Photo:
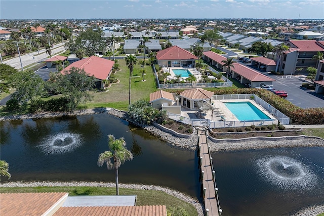
[{"label": "dark blue lake water with two spraying fountains", "polygon": [[[194,152],[166,145],[105,113],[73,118],[1,122],[1,159],[10,181],[114,182],[98,167],[107,135],[123,136],[134,159],[119,168],[119,183],[159,185],[199,198]],[[285,215],[324,203],[324,148],[282,148],[214,153],[224,215]],[[2,177],[2,181],[6,179]]]}]

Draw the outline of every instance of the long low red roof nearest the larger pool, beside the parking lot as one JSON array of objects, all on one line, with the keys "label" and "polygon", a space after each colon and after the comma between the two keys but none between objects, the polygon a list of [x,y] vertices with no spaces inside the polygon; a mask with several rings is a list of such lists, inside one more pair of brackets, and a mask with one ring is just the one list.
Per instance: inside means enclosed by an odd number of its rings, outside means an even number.
[{"label": "long low red roof nearest the larger pool, beside the parking lot", "polygon": [[265,81],[275,81],[272,78],[269,78],[258,71],[251,69],[245,65],[239,63],[233,63],[234,68],[231,68],[236,74],[240,75],[241,77],[250,80],[251,82],[265,82]]}]

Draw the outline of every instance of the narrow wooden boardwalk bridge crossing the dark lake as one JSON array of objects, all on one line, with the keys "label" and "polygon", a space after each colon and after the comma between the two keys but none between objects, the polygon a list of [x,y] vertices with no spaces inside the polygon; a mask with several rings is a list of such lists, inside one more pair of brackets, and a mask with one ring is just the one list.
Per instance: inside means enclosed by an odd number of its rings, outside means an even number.
[{"label": "narrow wooden boardwalk bridge crossing the dark lake", "polygon": [[[201,161],[201,172],[204,171],[203,175],[203,194],[205,194],[204,202],[206,212],[205,215],[219,215],[219,209],[217,206],[217,199],[215,194],[215,185],[214,178],[213,178],[213,167],[211,165],[210,154],[208,150],[208,143],[207,143],[207,136],[205,133],[205,128],[199,127],[198,130],[199,142],[198,147],[201,146],[199,149],[199,158]],[[201,159],[202,158],[202,159]],[[205,191],[206,188],[206,191]],[[203,195],[204,196],[204,195]],[[208,212],[207,212],[208,209]]]}]

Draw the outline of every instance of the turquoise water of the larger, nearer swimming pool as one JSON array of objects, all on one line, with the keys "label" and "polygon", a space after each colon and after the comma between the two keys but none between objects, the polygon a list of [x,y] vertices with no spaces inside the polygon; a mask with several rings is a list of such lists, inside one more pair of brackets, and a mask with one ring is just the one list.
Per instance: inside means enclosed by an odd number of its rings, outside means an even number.
[{"label": "turquoise water of the larger, nearer swimming pool", "polygon": [[229,102],[224,104],[240,121],[270,119],[250,102]]}]

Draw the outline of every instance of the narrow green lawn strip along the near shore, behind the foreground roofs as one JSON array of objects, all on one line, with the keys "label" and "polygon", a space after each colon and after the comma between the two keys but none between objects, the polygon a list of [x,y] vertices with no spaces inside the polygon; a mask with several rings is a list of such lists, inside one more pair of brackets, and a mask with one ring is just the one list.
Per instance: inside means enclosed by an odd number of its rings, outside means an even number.
[{"label": "narrow green lawn strip along the near shore, behind the foreground roofs", "polygon": [[[115,195],[116,188],[105,187],[15,187],[1,188],[1,193],[42,193],[42,192],[67,192],[70,196],[85,195]],[[119,188],[120,195],[137,195],[136,205],[166,205],[167,209],[182,206],[188,215],[196,216],[196,208],[162,191],[135,190]]]}]

